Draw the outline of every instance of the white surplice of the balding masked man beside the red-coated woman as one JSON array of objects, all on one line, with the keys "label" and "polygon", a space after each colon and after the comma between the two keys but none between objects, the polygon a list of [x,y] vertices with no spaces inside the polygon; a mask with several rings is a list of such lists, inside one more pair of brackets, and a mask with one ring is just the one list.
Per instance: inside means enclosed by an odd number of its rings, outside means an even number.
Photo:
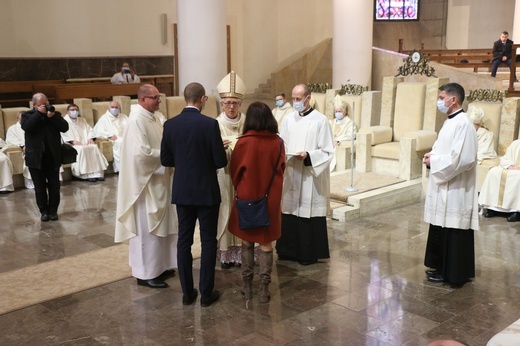
[{"label": "white surplice of the balding masked man beside the red-coated woman", "polygon": [[[327,118],[313,110],[306,116],[296,111],[283,121],[280,137],[285,142],[282,213],[310,218],[326,216],[330,196],[329,165],[334,155],[332,129]],[[291,154],[306,151],[312,166]]]}]

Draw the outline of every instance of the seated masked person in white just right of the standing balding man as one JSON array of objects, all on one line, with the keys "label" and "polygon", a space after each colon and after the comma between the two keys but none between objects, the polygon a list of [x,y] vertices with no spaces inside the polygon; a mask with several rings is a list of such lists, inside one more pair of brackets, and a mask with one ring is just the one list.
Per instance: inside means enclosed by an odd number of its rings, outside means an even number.
[{"label": "seated masked person in white just right of the standing balding man", "polygon": [[[334,148],[341,142],[350,142],[352,138],[356,139],[356,124],[348,117],[347,102],[339,95],[334,97],[334,119],[330,121],[330,126],[332,127]],[[330,163],[330,171],[332,172],[335,167],[336,156],[334,156]]]}]

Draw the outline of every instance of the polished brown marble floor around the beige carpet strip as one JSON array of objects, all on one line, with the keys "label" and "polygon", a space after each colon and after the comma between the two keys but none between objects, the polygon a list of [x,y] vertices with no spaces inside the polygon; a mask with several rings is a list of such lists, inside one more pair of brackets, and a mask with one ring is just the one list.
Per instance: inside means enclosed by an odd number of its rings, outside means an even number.
[{"label": "polished brown marble floor around the beige carpet strip", "polygon": [[[0,280],[113,246],[116,186],[65,182],[60,220],[46,223],[31,190],[0,195]],[[207,308],[182,305],[177,277],[163,290],[127,278],[0,315],[0,345],[485,345],[520,317],[520,223],[481,218],[476,278],[452,288],[425,280],[422,209],[328,220],[330,260],[277,261],[269,304],[246,308],[236,267],[217,267],[222,297]]]}]

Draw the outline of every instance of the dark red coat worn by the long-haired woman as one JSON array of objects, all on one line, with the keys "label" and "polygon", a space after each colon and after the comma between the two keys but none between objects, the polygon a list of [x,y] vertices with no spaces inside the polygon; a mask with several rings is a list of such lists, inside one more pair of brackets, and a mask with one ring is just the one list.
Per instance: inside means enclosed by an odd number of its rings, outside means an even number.
[{"label": "dark red coat worn by the long-haired woman", "polygon": [[[280,154],[282,139],[268,131],[247,131],[242,135],[231,154],[229,169],[235,193],[240,199],[261,198],[273,174],[276,159]],[[267,196],[267,210],[270,226],[242,231],[238,227],[237,208],[233,203],[228,229],[231,233],[247,242],[270,243],[281,235],[282,228],[282,184],[285,171],[285,148],[282,141],[282,154]]]}]

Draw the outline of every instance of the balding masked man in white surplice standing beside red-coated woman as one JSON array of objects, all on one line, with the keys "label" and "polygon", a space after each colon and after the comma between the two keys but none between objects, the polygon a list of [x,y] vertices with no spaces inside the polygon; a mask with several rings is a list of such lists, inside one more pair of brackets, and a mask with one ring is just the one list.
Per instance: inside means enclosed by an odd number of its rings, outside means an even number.
[{"label": "balding masked man in white surplice standing beside red-coated woman", "polygon": [[309,87],[296,85],[292,99],[296,111],[284,119],[280,131],[289,158],[282,194],[282,236],[276,251],[281,260],[309,265],[329,258],[326,215],[334,145],[329,121],[309,105]]}]

